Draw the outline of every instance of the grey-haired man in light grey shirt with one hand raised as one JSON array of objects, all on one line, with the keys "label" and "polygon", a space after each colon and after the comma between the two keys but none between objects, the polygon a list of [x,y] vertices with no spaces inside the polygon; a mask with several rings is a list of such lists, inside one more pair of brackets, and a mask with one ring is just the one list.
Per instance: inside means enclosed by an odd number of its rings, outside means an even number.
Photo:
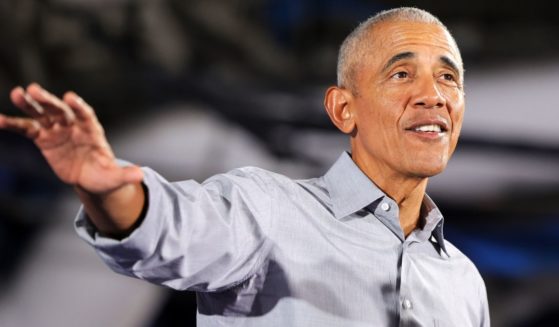
[{"label": "grey-haired man in light grey shirt with one hand raised", "polygon": [[83,202],[79,235],[115,271],[198,292],[200,326],[489,326],[485,286],[443,238],[425,194],[464,113],[463,65],[444,25],[400,8],[344,41],[326,91],[343,153],[320,178],[258,168],[170,183],[120,166],[76,94],[15,88],[33,139]]}]

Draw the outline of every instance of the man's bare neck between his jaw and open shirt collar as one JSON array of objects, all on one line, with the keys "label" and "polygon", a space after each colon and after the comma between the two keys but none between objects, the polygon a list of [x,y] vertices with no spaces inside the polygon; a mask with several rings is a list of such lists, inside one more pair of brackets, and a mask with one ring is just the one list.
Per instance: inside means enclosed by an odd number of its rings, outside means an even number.
[{"label": "man's bare neck between his jaw and open shirt collar", "polygon": [[400,226],[406,237],[420,227],[421,204],[429,178],[404,176],[358,161],[356,164],[378,188],[398,204]]}]

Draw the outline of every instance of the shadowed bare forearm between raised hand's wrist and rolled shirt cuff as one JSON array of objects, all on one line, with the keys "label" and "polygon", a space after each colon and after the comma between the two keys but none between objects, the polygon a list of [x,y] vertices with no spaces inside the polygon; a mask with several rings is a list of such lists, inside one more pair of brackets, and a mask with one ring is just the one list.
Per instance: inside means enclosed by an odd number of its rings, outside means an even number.
[{"label": "shadowed bare forearm between raised hand's wrist and rolled shirt cuff", "polygon": [[141,183],[130,183],[106,194],[92,194],[74,188],[87,216],[97,230],[106,236],[126,237],[141,219],[147,205]]}]

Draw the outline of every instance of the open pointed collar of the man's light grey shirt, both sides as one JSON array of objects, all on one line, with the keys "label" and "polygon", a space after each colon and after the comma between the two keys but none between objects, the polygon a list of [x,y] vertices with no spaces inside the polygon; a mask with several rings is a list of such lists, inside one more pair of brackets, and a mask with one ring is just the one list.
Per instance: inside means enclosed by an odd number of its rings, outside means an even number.
[{"label": "open pointed collar of the man's light grey shirt, both sides", "polygon": [[[336,219],[355,213],[386,196],[355,164],[349,153],[344,152],[324,175],[332,211]],[[443,222],[444,218],[433,200],[425,194],[423,199],[425,225],[418,231],[420,238],[430,238],[432,243],[446,253]],[[439,251],[439,254],[440,251]]]}]

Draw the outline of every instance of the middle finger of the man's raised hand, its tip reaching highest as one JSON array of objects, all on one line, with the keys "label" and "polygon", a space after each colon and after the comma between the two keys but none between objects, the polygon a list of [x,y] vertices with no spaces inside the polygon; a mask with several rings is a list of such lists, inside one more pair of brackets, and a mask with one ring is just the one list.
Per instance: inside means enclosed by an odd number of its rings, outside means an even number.
[{"label": "middle finger of the man's raised hand, its tip reaching highest", "polygon": [[71,125],[75,120],[72,109],[55,95],[43,89],[39,84],[32,83],[27,87],[27,94],[47,111],[53,122],[63,126]]}]

